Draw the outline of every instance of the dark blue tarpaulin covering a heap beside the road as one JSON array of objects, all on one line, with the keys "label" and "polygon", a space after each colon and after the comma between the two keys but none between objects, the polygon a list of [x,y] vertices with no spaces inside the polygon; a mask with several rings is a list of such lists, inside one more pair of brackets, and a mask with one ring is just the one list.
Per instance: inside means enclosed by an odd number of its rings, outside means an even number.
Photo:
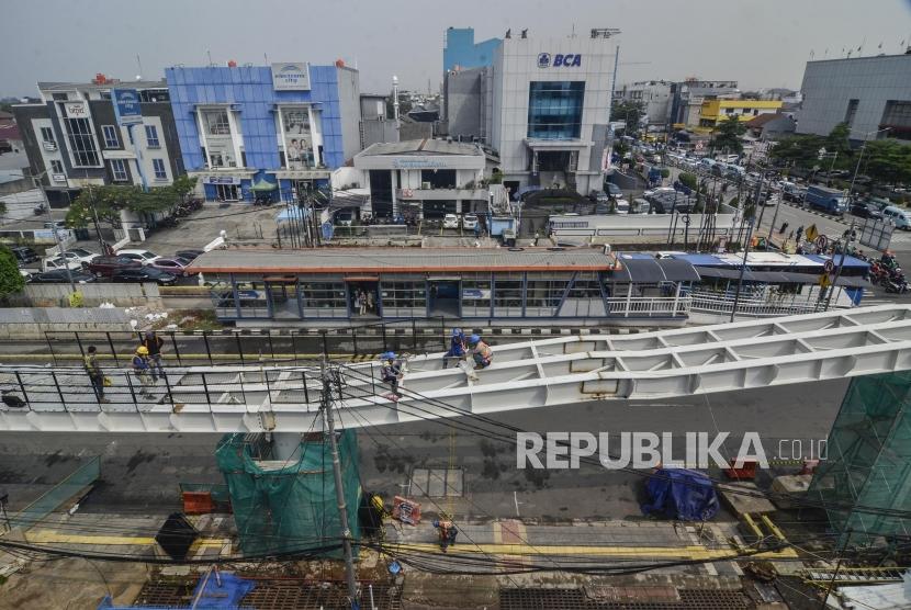
[{"label": "dark blue tarpaulin covering a heap beside the road", "polygon": [[708,521],[718,512],[718,496],[705,473],[687,468],[659,468],[645,485],[645,515],[659,513],[685,521]]}]

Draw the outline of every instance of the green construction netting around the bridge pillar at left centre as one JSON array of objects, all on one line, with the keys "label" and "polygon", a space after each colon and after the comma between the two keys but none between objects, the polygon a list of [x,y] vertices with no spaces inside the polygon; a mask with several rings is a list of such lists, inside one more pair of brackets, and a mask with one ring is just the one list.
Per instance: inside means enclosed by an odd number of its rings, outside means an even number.
[{"label": "green construction netting around the bridge pillar at left centre", "polygon": [[[358,540],[361,488],[353,430],[338,434],[341,478],[351,536]],[[302,441],[288,460],[263,460],[245,434],[226,434],[215,460],[230,492],[234,520],[246,555],[312,552],[341,542],[329,443]],[[340,557],[341,550],[320,553]]]}]

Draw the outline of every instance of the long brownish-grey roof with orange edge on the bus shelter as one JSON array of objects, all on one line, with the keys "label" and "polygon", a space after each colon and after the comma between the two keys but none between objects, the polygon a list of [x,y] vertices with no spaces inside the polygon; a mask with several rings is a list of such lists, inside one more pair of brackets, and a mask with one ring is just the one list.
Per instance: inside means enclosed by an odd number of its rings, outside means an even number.
[{"label": "long brownish-grey roof with orange edge on the bus shelter", "polygon": [[393,271],[607,270],[600,249],[324,248],[316,250],[213,250],[191,268],[203,273],[379,273]]}]

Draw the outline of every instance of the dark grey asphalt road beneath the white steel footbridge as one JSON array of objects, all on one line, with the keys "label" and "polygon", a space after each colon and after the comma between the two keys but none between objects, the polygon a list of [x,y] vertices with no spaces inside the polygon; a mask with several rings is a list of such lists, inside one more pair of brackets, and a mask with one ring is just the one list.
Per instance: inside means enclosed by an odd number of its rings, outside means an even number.
[{"label": "dark grey asphalt road beneath the white steel footbridge", "polygon": [[[722,454],[740,445],[744,431],[758,432],[769,459],[790,459],[790,439],[824,439],[847,382],[787,385],[740,393],[660,402],[593,402],[580,405],[497,414],[496,421],[528,431],[675,432],[674,458],[686,431],[730,431]],[[459,421],[459,420],[457,420]],[[385,497],[410,489],[424,510],[458,515],[570,519],[623,517],[639,512],[643,477],[597,466],[535,471],[516,467],[516,451],[475,430],[446,422],[397,425],[359,432],[361,481]],[[510,434],[508,431],[498,433]],[[63,434],[0,433],[0,490],[18,510],[79,464],[102,456],[102,482],[80,510],[161,513],[179,509],[178,484],[221,483],[213,456],[218,434]],[[779,439],[787,439],[784,455]],[[452,442],[454,440],[454,442]],[[619,451],[618,445],[610,452]],[[806,455],[805,455],[806,456]],[[425,482],[413,482],[415,467],[462,468],[466,496],[451,502],[421,498]],[[716,473],[718,474],[718,473]],[[435,475],[431,475],[435,476]],[[430,483],[440,483],[430,482]]]}]

